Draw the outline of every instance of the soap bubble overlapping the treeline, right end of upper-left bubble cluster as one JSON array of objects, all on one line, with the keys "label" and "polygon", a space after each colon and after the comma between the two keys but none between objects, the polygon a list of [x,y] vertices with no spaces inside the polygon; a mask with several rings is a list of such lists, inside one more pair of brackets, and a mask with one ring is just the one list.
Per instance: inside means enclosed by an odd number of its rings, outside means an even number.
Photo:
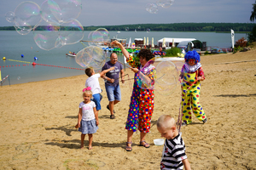
[{"label": "soap bubble overlapping the treeline, right end of upper-left bubble cluster", "polygon": [[79,20],[67,20],[61,24],[60,37],[62,45],[77,43],[84,37],[84,27]]}]

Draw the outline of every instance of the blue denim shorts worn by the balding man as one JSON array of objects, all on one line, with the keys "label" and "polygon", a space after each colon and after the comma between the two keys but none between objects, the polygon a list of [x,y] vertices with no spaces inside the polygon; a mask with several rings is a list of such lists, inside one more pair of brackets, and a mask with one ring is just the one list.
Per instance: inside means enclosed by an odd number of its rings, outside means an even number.
[{"label": "blue denim shorts worn by the balding man", "polygon": [[108,101],[114,101],[114,100],[121,101],[121,90],[119,85],[108,86],[107,84],[105,84],[105,88],[108,95]]}]

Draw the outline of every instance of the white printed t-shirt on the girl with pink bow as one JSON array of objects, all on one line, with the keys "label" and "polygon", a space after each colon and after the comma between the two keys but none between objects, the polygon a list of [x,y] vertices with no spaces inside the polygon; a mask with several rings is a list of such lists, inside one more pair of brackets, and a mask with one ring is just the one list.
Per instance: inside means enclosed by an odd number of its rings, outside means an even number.
[{"label": "white printed t-shirt on the girl with pink bow", "polygon": [[79,104],[79,108],[82,109],[82,120],[83,121],[91,121],[95,119],[93,108],[96,107],[95,103],[93,101],[90,101],[89,104],[84,104],[82,101]]}]

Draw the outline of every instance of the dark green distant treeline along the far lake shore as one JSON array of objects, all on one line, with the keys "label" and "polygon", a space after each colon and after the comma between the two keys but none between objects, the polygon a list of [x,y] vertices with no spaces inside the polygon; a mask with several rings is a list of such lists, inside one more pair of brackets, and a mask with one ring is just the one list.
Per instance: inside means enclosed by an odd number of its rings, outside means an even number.
[{"label": "dark green distant treeline along the far lake shore", "polygon": [[[174,24],[136,24],[120,26],[84,26],[84,31],[95,31],[106,28],[108,31],[234,31],[249,32],[253,30],[253,23],[174,23]],[[128,30],[129,29],[129,30]],[[61,30],[67,30],[61,28]],[[73,29],[76,30],[76,29]],[[2,26],[0,31],[15,31],[14,26]]]}]

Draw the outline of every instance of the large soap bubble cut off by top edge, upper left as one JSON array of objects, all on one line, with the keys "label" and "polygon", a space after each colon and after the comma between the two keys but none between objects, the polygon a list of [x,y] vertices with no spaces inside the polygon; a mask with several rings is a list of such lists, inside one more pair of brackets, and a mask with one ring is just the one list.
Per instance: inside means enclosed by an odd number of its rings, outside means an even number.
[{"label": "large soap bubble cut off by top edge, upper left", "polygon": [[81,0],[48,0],[48,5],[60,23],[77,19],[82,10]]}]

